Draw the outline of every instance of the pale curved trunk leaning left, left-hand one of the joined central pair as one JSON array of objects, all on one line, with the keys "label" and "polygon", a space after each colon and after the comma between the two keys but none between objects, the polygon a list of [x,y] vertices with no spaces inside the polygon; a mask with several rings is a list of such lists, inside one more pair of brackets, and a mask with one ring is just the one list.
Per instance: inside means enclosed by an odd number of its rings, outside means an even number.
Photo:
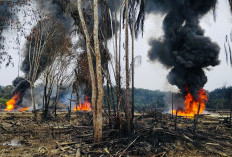
[{"label": "pale curved trunk leaning left, left-hand one of the joined central pair", "polygon": [[[93,60],[92,60],[92,54],[91,54],[90,36],[89,36],[89,32],[88,32],[85,19],[82,13],[82,0],[77,0],[77,5],[78,5],[78,13],[79,13],[80,20],[81,20],[81,25],[85,33],[89,72],[90,72],[90,77],[91,77],[91,82],[92,82],[92,100],[91,100],[92,112],[93,112],[93,119],[96,119],[95,111],[96,111],[97,88],[96,88],[95,73],[94,73]],[[93,128],[96,128],[95,125],[96,123],[95,121],[93,121]]]}]

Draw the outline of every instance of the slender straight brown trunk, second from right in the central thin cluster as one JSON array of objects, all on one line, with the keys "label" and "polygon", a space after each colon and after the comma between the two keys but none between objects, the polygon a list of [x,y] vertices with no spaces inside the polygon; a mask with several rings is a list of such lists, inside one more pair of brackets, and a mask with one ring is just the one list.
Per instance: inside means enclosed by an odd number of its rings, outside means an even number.
[{"label": "slender straight brown trunk, second from right in the central thin cluster", "polygon": [[126,111],[126,117],[127,117],[127,131],[128,133],[130,132],[130,76],[129,76],[129,30],[128,30],[128,25],[129,25],[129,16],[128,16],[128,1],[126,0],[126,31],[125,31],[125,43],[126,43],[126,106],[127,106],[127,111]]}]

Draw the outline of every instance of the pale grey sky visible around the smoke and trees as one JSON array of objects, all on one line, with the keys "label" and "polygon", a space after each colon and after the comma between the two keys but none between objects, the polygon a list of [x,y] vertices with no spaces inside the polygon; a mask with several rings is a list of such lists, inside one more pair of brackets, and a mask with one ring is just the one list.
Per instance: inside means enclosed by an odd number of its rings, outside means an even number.
[{"label": "pale grey sky visible around the smoke and trees", "polygon": [[[21,17],[23,18],[23,17]],[[158,61],[151,62],[147,57],[149,50],[148,41],[151,38],[159,38],[163,35],[162,15],[147,15],[145,20],[145,28],[143,38],[140,36],[135,42],[135,56],[141,56],[142,62],[135,70],[135,87],[145,88],[150,90],[161,91],[177,91],[175,86],[171,86],[166,77],[170,69],[166,69]],[[229,35],[232,29],[232,15],[228,5],[228,1],[218,0],[217,5],[217,20],[213,19],[212,11],[205,15],[200,20],[200,25],[205,30],[205,36],[209,36],[212,41],[216,42],[220,50],[220,65],[210,67],[210,71],[206,70],[208,82],[205,89],[212,91],[216,88],[232,85],[232,67],[226,64],[224,55],[225,36]],[[11,31],[5,32],[8,40],[13,40],[14,34]],[[124,36],[122,36],[124,37]],[[21,40],[21,52],[23,51],[23,39]],[[13,45],[13,43],[12,43]],[[0,68],[0,85],[9,85],[18,76],[19,56],[18,51],[12,48],[12,45],[7,46],[8,53],[13,57],[14,66],[7,68],[1,65]],[[112,42],[109,43],[110,50],[113,49]],[[21,59],[20,59],[21,60]],[[122,67],[124,68],[124,66]],[[20,76],[23,74],[20,72]]]}]

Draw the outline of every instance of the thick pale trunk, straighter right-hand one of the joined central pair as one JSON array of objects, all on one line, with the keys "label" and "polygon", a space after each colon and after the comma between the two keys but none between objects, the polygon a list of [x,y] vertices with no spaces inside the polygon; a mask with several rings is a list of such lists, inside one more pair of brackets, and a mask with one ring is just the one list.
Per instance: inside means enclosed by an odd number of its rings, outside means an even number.
[{"label": "thick pale trunk, straighter right-hand one of the joined central pair", "polygon": [[98,17],[98,0],[94,0],[94,50],[96,54],[96,75],[97,75],[97,105],[96,105],[96,128],[94,132],[94,142],[98,143],[102,141],[102,106],[104,103],[104,89],[103,89],[103,77],[102,77],[102,65],[101,65],[101,53],[98,39],[98,29],[99,29],[99,17]]}]

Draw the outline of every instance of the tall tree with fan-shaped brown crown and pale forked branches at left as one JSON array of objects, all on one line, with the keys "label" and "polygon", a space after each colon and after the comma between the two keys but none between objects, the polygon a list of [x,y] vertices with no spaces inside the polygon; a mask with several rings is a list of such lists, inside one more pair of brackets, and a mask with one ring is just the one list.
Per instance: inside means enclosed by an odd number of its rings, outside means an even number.
[{"label": "tall tree with fan-shaped brown crown and pale forked branches at left", "polygon": [[[58,50],[61,49],[64,40],[63,36],[66,29],[58,20],[49,18],[41,20],[32,29],[27,37],[25,48],[25,59],[23,61],[23,71],[26,74],[26,80],[30,83],[31,99],[36,120],[36,106],[34,100],[34,85],[41,73],[54,62]],[[50,75],[50,71],[47,76]],[[52,81],[53,82],[53,81]],[[50,92],[49,92],[50,93]],[[49,100],[47,101],[49,102]]]}]

